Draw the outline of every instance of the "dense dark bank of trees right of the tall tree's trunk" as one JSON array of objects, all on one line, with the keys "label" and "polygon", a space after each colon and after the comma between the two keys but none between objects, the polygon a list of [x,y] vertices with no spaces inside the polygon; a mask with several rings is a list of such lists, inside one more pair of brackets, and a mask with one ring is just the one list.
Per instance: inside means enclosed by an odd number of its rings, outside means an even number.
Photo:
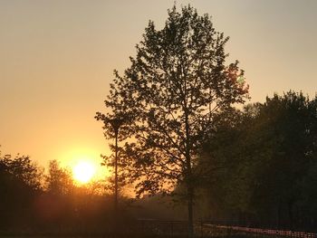
[{"label": "dense dark bank of trees right of the tall tree's trunk", "polygon": [[[197,218],[317,227],[317,98],[289,91],[215,119],[198,159]],[[206,212],[207,211],[207,212]]]}]

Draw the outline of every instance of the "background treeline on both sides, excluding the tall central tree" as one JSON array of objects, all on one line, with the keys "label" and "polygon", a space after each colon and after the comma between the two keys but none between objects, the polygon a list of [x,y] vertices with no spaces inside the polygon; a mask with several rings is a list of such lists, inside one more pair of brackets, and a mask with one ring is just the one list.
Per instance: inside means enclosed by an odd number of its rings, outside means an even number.
[{"label": "background treeline on both sides, excluding the tall central tree", "polygon": [[[315,230],[317,98],[276,94],[216,114],[211,128],[193,171],[197,221]],[[173,194],[181,195],[182,186]],[[186,205],[167,207],[178,198],[121,198],[122,224],[131,217],[187,219]],[[114,217],[104,183],[76,186],[57,161],[44,173],[29,157],[0,155],[0,231],[98,233]]]}]

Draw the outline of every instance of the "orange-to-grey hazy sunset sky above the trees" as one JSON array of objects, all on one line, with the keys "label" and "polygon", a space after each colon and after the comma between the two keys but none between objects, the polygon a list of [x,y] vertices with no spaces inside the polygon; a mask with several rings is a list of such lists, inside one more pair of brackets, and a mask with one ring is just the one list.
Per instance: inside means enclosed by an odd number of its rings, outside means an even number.
[{"label": "orange-to-grey hazy sunset sky above the trees", "polygon": [[[109,141],[94,116],[105,111],[113,70],[130,66],[149,20],[160,29],[174,2],[0,0],[2,154],[41,166],[87,158],[99,165]],[[188,4],[230,36],[228,63],[245,70],[251,102],[287,90],[314,97],[317,1],[176,1],[178,9]]]}]

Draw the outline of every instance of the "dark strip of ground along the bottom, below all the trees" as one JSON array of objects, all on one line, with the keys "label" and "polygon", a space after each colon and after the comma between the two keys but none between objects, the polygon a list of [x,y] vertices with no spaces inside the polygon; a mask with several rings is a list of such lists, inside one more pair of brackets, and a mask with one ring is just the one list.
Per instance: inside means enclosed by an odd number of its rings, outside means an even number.
[{"label": "dark strip of ground along the bottom, below all the trees", "polygon": [[[184,238],[188,237],[186,221],[158,221],[158,220],[139,220],[129,224],[119,224],[116,229],[104,231],[85,231],[81,232],[58,232],[58,233],[13,233],[1,232],[0,237],[65,237],[65,238]],[[291,237],[291,238],[317,238],[317,233],[305,233],[277,229],[264,229],[247,227],[237,224],[225,224],[215,222],[200,222],[194,225],[194,236],[196,238],[235,238],[235,237]]]}]

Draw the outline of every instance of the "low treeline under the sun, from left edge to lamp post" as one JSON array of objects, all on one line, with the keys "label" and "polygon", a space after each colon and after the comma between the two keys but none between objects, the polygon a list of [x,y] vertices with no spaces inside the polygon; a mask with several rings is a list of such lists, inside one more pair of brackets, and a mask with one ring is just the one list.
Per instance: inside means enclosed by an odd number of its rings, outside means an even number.
[{"label": "low treeline under the sun, from left edge to lamp post", "polygon": [[0,232],[85,233],[110,229],[112,197],[101,182],[76,186],[72,174],[30,157],[0,156]]}]

